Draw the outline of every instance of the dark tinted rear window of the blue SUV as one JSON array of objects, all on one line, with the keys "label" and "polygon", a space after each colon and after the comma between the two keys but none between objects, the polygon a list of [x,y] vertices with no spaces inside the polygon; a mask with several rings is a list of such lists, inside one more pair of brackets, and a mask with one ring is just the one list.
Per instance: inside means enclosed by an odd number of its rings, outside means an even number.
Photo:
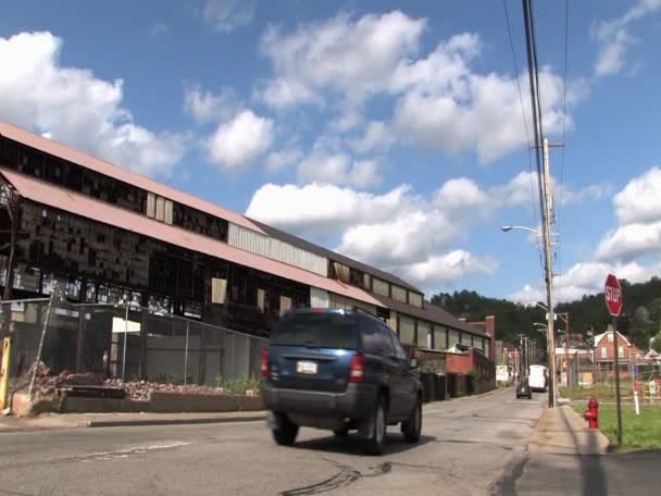
[{"label": "dark tinted rear window of the blue SUV", "polygon": [[295,313],[285,317],[271,334],[271,344],[312,348],[356,349],[358,320],[341,313]]}]

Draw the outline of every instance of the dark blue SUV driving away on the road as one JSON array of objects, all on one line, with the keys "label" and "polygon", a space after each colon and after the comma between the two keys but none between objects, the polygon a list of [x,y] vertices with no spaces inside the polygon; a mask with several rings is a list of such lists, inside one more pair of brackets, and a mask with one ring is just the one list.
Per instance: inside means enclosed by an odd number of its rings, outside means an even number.
[{"label": "dark blue SUV driving away on the road", "polygon": [[371,455],[384,449],[387,425],[420,439],[422,385],[397,335],[363,311],[288,312],[262,351],[262,398],[278,445],[300,426],[346,436],[357,430]]}]

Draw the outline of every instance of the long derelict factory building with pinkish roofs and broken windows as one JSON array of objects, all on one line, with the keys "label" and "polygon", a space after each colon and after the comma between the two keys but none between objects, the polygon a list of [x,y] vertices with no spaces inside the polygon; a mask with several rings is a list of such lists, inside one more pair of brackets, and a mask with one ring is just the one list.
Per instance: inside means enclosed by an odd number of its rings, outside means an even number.
[{"label": "long derelict factory building with pinkish roofs and broken windows", "polygon": [[392,274],[5,123],[0,175],[0,281],[13,298],[58,284],[71,301],[261,336],[294,307],[361,308],[404,345],[494,355],[494,336]]}]

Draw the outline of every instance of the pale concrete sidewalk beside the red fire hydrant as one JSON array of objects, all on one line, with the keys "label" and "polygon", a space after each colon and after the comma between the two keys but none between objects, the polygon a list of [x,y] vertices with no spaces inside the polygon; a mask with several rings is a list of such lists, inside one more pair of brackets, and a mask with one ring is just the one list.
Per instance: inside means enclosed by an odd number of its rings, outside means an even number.
[{"label": "pale concrete sidewalk beside the red fire hydrant", "polygon": [[587,429],[570,406],[545,408],[528,444],[528,451],[566,455],[602,455],[609,441],[599,431]]}]

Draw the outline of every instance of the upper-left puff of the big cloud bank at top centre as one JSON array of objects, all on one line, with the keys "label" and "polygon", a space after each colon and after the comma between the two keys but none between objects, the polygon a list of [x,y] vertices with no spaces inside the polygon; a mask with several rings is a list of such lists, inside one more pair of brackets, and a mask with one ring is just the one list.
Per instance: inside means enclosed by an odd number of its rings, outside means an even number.
[{"label": "upper-left puff of the big cloud bank at top centre", "polygon": [[384,88],[397,64],[417,50],[425,20],[394,11],[348,14],[299,25],[283,34],[271,26],[262,37],[262,52],[275,76],[261,97],[276,108],[323,101],[326,89],[360,101]]}]

